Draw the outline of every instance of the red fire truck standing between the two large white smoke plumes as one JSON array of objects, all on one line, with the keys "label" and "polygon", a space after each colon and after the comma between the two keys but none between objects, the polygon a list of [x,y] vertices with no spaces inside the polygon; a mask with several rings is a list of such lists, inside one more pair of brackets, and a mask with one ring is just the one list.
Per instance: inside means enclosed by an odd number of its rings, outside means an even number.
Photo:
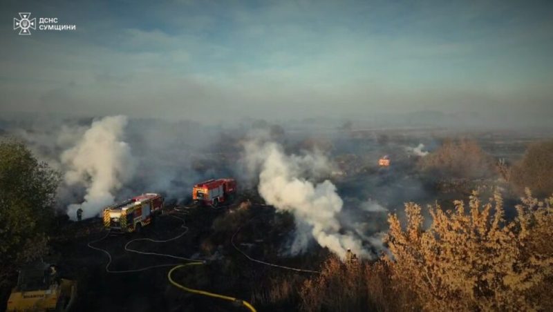
[{"label": "red fire truck standing between the two large white smoke plumes", "polygon": [[210,179],[194,185],[192,199],[196,204],[218,206],[223,202],[232,202],[235,194],[234,179]]}]

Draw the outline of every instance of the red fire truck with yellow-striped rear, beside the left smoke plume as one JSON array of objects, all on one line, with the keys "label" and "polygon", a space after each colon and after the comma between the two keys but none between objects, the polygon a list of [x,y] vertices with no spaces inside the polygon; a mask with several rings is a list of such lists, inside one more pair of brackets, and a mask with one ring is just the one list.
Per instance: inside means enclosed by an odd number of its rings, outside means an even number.
[{"label": "red fire truck with yellow-striped rear, beside the left smoke plume", "polygon": [[120,232],[140,232],[163,208],[163,197],[147,193],[104,208],[104,226]]}]

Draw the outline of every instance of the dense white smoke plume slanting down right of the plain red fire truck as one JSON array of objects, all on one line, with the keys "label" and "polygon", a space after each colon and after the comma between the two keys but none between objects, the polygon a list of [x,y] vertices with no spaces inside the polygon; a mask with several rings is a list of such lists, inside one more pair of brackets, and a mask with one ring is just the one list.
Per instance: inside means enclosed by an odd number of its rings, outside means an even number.
[{"label": "dense white smoke plume slanting down right of the plain red fire truck", "polygon": [[294,215],[297,235],[292,252],[304,251],[311,235],[339,257],[344,258],[348,249],[370,257],[357,236],[341,232],[337,216],[343,202],[334,184],[314,184],[305,178],[330,168],[323,155],[285,155],[279,144],[253,139],[245,143],[245,158],[250,170],[260,172],[258,190],[265,202]]}]

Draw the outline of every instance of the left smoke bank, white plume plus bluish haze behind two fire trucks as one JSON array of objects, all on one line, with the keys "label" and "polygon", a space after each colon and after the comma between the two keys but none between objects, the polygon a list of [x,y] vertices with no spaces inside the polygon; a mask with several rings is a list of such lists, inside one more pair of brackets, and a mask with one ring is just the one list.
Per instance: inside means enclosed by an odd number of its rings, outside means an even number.
[{"label": "left smoke bank, white plume plus bluish haze behind two fire trucks", "polygon": [[[141,193],[184,202],[194,183],[234,175],[213,150],[221,146],[221,130],[195,121],[32,117],[0,123],[0,134],[21,140],[62,174],[57,208],[72,219],[81,204],[83,217],[94,217],[104,206]],[[225,146],[225,152],[232,148]]]}]

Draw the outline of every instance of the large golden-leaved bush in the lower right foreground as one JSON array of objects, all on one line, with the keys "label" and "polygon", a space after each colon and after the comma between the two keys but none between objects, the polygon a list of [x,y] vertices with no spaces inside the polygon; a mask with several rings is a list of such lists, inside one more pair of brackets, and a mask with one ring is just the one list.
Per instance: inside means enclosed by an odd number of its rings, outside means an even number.
[{"label": "large golden-leaved bush in the lower right foreground", "polygon": [[430,207],[427,231],[417,204],[406,204],[405,230],[389,217],[387,261],[397,284],[417,293],[427,311],[551,310],[553,197],[538,202],[527,191],[510,222],[498,193],[487,204],[474,193],[468,209],[455,205]]}]

